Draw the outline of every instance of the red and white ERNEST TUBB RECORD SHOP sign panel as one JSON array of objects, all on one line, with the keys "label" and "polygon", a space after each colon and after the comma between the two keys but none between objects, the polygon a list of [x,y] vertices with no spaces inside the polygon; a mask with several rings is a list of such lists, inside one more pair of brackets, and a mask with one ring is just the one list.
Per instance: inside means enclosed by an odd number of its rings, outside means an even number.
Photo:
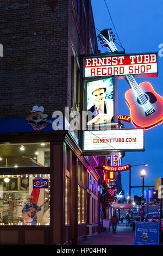
[{"label": "red and white ERNEST TUBB RECORD SHOP sign panel", "polygon": [[157,53],[84,58],[84,77],[158,74]]}]

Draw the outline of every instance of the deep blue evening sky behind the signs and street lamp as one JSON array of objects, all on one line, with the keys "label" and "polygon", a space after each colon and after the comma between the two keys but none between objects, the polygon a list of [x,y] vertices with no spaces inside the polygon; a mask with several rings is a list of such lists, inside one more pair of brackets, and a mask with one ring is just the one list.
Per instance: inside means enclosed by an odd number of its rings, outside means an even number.
[{"label": "deep blue evening sky behind the signs and street lamp", "polygon": [[[112,21],[116,28],[118,37],[126,53],[147,53],[159,52],[163,55],[163,50],[159,45],[163,46],[163,1],[157,0],[91,0],[95,27],[102,31],[104,28],[112,28],[116,35],[114,26],[112,25],[108,9],[108,5]],[[98,30],[96,33],[98,34]],[[118,44],[118,38],[116,36]],[[117,46],[117,45],[116,45]],[[163,47],[162,47],[163,49]],[[99,44],[101,52],[109,51],[102,48]],[[121,50],[118,47],[118,50]],[[122,50],[121,50],[122,51]],[[159,54],[160,55],[160,54]],[[158,55],[159,75],[158,77],[136,78],[137,83],[148,81],[152,84],[154,90],[163,96],[163,56]],[[125,102],[124,94],[129,89],[126,80],[118,80],[118,113],[130,115],[129,108]],[[163,115],[163,108],[160,109]],[[126,123],[127,125],[127,123]],[[129,124],[128,127],[134,127]],[[162,170],[162,147],[163,147],[163,124],[145,131],[145,151],[126,153],[123,157],[122,164],[130,165],[148,163],[148,166],[137,166],[131,169],[131,185],[142,186],[142,178],[140,172],[146,169],[145,186],[154,186],[155,178],[163,176]],[[129,171],[122,172],[122,186],[125,193],[129,193]],[[142,188],[132,188],[131,196],[141,196]]]}]

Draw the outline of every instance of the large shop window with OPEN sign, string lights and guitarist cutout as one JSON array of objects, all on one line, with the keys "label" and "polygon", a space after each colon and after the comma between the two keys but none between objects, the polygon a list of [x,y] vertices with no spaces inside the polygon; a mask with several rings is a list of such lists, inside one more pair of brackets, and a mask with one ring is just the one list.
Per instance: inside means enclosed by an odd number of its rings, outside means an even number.
[{"label": "large shop window with OPEN sign, string lights and guitarist cutout", "polygon": [[0,225],[49,225],[50,175],[0,175]]}]

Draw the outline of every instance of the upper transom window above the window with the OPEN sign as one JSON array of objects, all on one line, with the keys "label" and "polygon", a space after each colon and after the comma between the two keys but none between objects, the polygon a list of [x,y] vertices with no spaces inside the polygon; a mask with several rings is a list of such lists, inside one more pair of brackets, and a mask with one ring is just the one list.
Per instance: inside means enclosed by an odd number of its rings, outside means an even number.
[{"label": "upper transom window above the window with the OPEN sign", "polygon": [[0,168],[50,166],[50,143],[0,145]]}]

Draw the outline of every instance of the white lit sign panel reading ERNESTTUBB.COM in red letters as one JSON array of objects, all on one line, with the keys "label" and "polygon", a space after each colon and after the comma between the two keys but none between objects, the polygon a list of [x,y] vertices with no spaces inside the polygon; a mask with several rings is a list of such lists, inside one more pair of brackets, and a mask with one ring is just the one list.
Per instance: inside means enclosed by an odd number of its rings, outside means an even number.
[{"label": "white lit sign panel reading ERNESTTUBB.COM in red letters", "polygon": [[84,131],[83,151],[143,151],[144,129]]}]

